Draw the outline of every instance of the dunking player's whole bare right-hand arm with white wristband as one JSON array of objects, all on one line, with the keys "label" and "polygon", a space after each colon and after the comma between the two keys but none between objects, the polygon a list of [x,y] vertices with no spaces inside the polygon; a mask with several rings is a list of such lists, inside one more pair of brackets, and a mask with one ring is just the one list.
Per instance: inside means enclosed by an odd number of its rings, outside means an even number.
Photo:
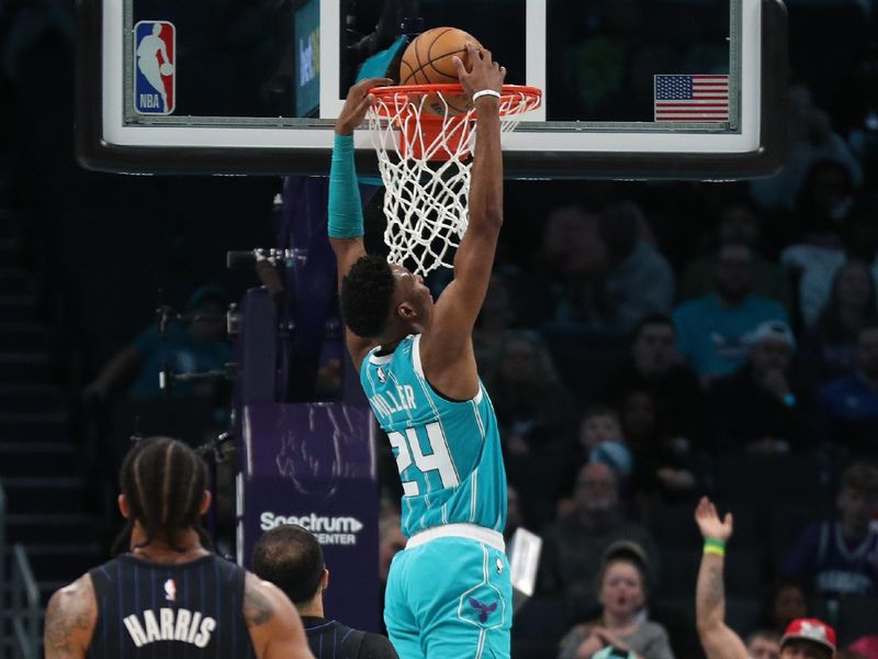
[{"label": "dunking player's whole bare right-hand arm with white wristband", "polygon": [[454,257],[454,280],[436,303],[421,339],[424,369],[430,382],[454,398],[477,391],[472,328],[485,299],[503,224],[503,155],[499,92],[506,68],[491,52],[468,45],[472,70],[454,58],[461,85],[477,113],[475,154],[469,199],[469,226]]}]

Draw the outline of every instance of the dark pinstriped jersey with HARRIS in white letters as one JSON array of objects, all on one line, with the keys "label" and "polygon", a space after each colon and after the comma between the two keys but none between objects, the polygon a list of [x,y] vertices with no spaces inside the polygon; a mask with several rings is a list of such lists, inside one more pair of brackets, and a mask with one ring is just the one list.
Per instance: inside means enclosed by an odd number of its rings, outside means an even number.
[{"label": "dark pinstriped jersey with HARRIS in white letters", "polygon": [[216,555],[157,563],[122,555],[89,571],[98,622],[89,659],[255,659],[246,571]]}]

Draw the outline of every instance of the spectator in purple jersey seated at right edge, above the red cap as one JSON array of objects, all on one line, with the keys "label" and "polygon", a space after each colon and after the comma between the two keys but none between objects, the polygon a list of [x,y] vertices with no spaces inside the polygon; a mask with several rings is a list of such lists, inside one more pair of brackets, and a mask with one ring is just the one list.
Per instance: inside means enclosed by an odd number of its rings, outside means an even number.
[{"label": "spectator in purple jersey seated at right edge, above the red cap", "polygon": [[802,530],[783,573],[809,584],[814,594],[878,594],[878,467],[857,462],[842,474],[835,500],[840,518]]}]

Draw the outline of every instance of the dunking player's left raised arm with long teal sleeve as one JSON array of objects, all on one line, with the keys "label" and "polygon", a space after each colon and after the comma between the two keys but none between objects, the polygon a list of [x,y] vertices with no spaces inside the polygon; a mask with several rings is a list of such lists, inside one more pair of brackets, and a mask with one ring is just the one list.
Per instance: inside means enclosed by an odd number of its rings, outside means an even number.
[{"label": "dunking player's left raised arm with long teal sleeve", "polygon": [[[353,166],[353,130],[359,126],[372,104],[369,90],[390,85],[389,78],[367,78],[348,91],[345,107],[336,121],[333,164],[329,170],[329,243],[338,263],[338,286],[350,267],[365,255],[363,211],[357,170]],[[347,344],[357,367],[373,342],[347,331]]]}]

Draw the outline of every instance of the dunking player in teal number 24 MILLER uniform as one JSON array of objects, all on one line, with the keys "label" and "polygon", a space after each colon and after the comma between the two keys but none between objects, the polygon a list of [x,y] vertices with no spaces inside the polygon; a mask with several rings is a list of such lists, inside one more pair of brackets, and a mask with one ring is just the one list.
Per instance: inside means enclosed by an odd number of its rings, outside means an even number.
[{"label": "dunking player in teal number 24 MILLER uniform", "polygon": [[369,89],[389,81],[351,88],[333,152],[329,237],[348,349],[403,481],[408,543],[391,566],[384,610],[403,659],[509,657],[506,473],[472,344],[503,223],[498,92],[506,69],[488,51],[468,51],[472,70],[458,58],[454,66],[479,116],[469,227],[454,279],[436,303],[420,277],[363,247],[352,133],[372,102]]}]

